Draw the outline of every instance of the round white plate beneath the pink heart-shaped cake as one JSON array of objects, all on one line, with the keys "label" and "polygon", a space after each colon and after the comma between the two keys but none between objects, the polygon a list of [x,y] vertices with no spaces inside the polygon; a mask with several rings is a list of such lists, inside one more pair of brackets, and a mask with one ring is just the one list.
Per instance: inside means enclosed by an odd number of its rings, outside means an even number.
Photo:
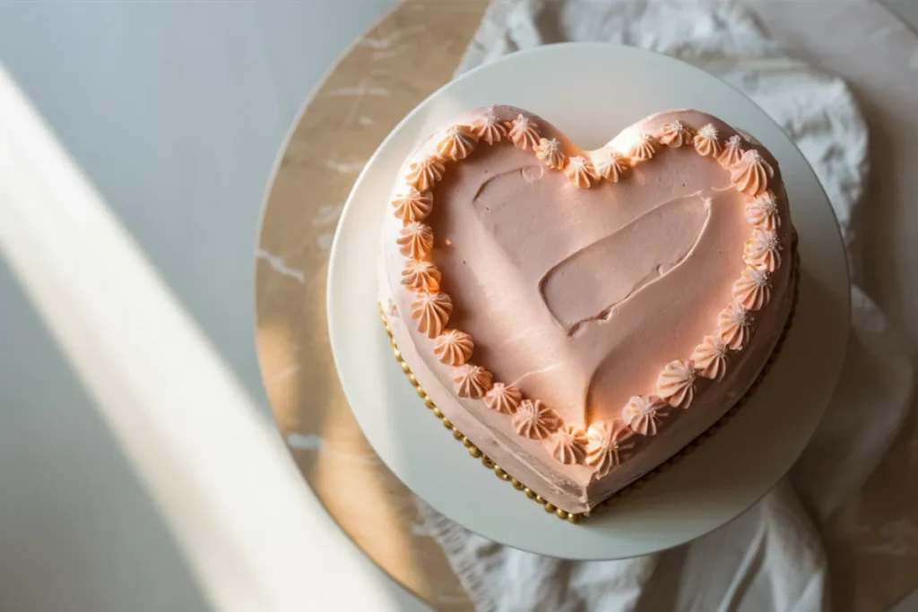
[{"label": "round white plate beneath the pink heart-shaped cake", "polygon": [[[697,108],[756,136],[781,165],[800,234],[800,298],[778,362],[730,424],[683,462],[572,525],[483,469],[431,416],[398,367],[376,306],[376,257],[399,165],[457,114],[521,106],[586,149],[656,111]],[[764,111],[688,64],[611,44],[515,53],[448,83],[402,121],[354,184],[331,248],[329,331],[341,384],[393,473],[446,517],[486,538],[567,559],[660,551],[722,526],[787,473],[835,386],[848,334],[845,250],[809,164]]]}]

